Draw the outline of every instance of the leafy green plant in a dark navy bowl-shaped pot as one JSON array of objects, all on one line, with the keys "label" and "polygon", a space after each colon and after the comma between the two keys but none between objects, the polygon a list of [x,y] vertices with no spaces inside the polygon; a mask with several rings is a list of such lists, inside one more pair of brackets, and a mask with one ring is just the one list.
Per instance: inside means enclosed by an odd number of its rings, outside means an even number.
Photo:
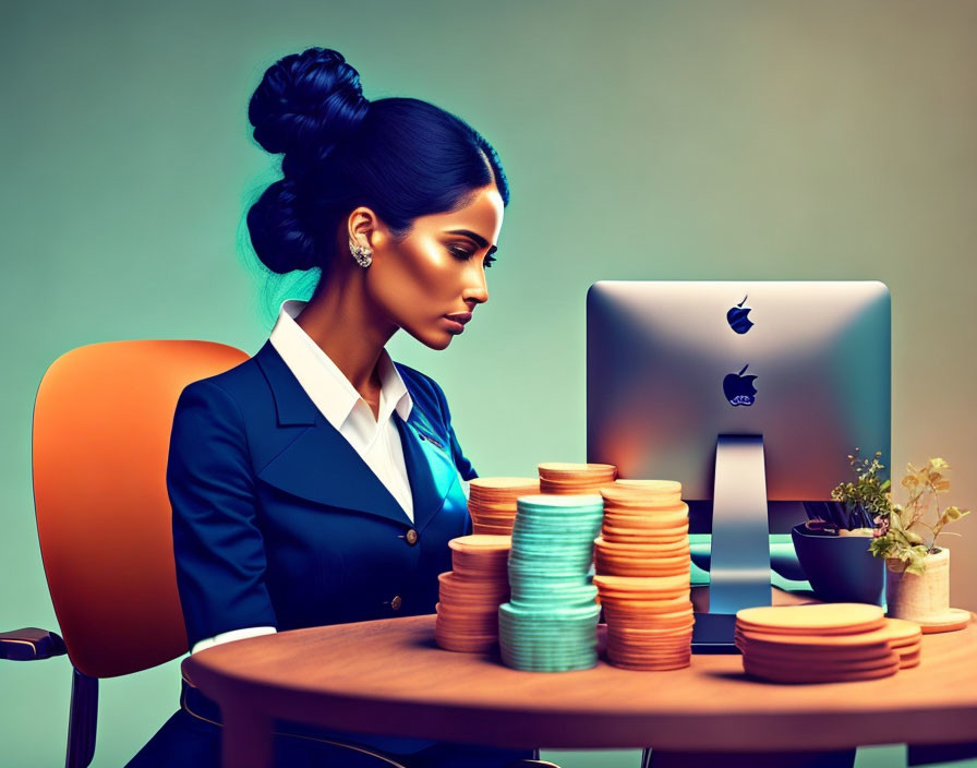
[{"label": "leafy green plant in a dark navy bowl-shaped pot", "polygon": [[839,483],[830,502],[805,502],[808,521],[791,531],[794,550],[811,589],[827,602],[882,604],[885,567],[872,557],[867,539],[877,529],[876,518],[890,509],[890,481],[882,476],[881,452],[859,458],[848,456],[855,472],[852,482]]}]

